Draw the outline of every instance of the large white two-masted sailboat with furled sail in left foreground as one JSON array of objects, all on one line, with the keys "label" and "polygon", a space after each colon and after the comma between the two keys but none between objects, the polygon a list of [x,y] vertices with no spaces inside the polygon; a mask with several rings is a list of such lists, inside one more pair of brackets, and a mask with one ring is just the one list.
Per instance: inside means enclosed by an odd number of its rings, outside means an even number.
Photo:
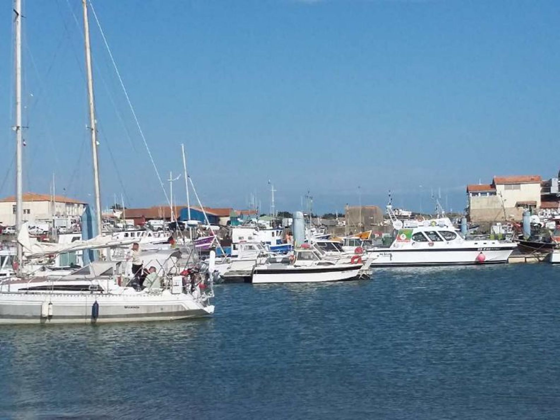
[{"label": "large white two-masted sailboat with furled sail in left foreground", "polygon": [[[97,232],[102,232],[95,107],[87,3],[82,0],[86,43],[87,87],[90,105],[90,128],[94,161],[95,212]],[[21,0],[14,0],[16,28],[16,225],[22,233],[21,188]],[[25,233],[25,227],[23,228]],[[29,237],[27,237],[29,239]],[[74,249],[98,249],[111,245],[111,237],[97,237]],[[68,276],[21,276],[24,253],[59,253],[68,246],[46,246],[26,242],[21,235],[17,243],[18,277],[0,282],[0,324],[21,323],[99,323],[169,320],[212,314],[214,306],[212,277],[196,270],[180,272],[176,267],[156,268],[150,287],[127,286],[123,262],[93,262]]]}]

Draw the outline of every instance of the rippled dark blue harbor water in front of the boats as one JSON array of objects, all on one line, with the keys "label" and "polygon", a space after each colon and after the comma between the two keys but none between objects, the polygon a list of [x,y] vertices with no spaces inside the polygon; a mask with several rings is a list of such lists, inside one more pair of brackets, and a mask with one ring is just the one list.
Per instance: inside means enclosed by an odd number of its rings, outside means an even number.
[{"label": "rippled dark blue harbor water in front of the boats", "polygon": [[0,418],[558,418],[560,267],[216,287],[213,318],[0,329]]}]

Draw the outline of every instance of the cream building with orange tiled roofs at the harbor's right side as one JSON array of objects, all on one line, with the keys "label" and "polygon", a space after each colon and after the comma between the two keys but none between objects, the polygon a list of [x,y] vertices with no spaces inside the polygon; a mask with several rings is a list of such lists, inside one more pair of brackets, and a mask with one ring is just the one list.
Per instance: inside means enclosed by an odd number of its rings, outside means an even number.
[{"label": "cream building with orange tiled roofs at the harbor's right side", "polygon": [[494,177],[491,184],[468,185],[470,221],[520,221],[524,209],[540,209],[541,183],[539,175],[524,175]]}]

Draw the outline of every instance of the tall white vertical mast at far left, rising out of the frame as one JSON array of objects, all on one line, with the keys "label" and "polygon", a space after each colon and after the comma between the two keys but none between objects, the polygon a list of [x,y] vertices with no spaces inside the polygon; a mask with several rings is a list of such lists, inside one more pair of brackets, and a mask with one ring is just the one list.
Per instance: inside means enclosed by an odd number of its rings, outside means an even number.
[{"label": "tall white vertical mast at far left, rising out of the frame", "polygon": [[[21,0],[14,0],[13,11],[16,13],[16,233],[20,233],[24,220],[23,209],[23,187],[22,187],[22,133],[21,133]],[[17,242],[17,262],[21,266],[22,259],[21,244]]]}]

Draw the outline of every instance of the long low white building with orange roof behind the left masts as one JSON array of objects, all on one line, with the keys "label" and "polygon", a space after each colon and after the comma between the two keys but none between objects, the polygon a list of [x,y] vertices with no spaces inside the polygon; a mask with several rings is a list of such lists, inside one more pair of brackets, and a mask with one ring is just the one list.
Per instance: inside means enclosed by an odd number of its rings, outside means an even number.
[{"label": "long low white building with orange roof behind the left masts", "polygon": [[[34,222],[49,220],[53,216],[79,218],[86,203],[68,197],[49,194],[35,194],[26,192],[23,196],[24,221]],[[0,199],[0,225],[13,226],[16,224],[16,197]]]}]

